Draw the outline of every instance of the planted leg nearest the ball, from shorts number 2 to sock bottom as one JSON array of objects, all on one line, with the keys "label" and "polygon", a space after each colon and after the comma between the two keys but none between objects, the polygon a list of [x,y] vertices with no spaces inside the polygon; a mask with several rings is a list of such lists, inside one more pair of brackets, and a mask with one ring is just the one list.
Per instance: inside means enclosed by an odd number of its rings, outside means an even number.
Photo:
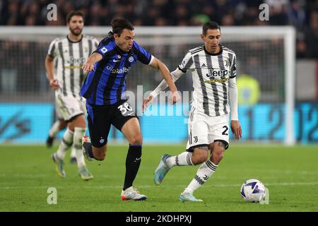
[{"label": "planted leg nearest the ball, from shorts number 2 to sock bottom", "polygon": [[211,157],[199,167],[192,182],[184,189],[184,193],[193,194],[208,178],[212,177],[218,168],[218,163],[223,159],[225,149],[228,148],[228,133],[225,131],[228,128],[226,127],[228,126],[228,115],[211,117],[208,122],[210,125],[208,141],[213,141],[209,144]]}]

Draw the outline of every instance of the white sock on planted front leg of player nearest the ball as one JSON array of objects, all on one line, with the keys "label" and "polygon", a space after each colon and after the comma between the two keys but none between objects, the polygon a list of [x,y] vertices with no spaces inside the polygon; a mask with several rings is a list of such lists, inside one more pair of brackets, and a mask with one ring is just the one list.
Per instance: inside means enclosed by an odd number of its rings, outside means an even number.
[{"label": "white sock on planted front leg of player nearest the ball", "polygon": [[206,162],[199,167],[196,176],[192,179],[192,182],[190,182],[187,188],[184,189],[184,192],[192,194],[196,189],[199,189],[199,187],[202,186],[214,172],[216,172],[217,168],[218,165],[215,165],[211,160],[206,160]]}]

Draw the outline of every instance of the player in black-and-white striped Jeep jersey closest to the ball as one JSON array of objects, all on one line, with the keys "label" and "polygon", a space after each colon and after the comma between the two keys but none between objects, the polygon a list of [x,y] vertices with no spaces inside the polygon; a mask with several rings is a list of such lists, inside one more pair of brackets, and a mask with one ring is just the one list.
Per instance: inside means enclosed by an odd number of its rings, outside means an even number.
[{"label": "player in black-and-white striped Jeep jersey closest to the ball", "polygon": [[[212,176],[223,159],[229,143],[229,117],[235,139],[242,137],[237,114],[235,52],[219,44],[221,34],[218,23],[205,23],[202,30],[204,45],[190,49],[182,64],[171,73],[176,81],[187,70],[192,71],[194,94],[187,151],[176,156],[163,155],[154,177],[155,184],[159,185],[172,167],[201,164],[192,182],[180,194],[180,201],[202,201],[195,198],[193,192]],[[160,83],[143,101],[143,110],[166,87],[165,81]],[[211,151],[210,157],[208,150]]]}]

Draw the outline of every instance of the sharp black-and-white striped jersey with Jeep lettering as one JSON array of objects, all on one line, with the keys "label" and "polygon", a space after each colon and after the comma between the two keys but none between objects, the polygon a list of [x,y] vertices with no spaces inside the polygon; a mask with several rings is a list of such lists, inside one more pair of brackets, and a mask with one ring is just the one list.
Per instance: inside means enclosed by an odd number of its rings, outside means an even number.
[{"label": "sharp black-and-white striped jersey with Jeep lettering", "polygon": [[190,49],[178,68],[192,71],[193,107],[209,116],[230,112],[228,82],[236,76],[235,52],[220,46],[218,54],[210,54],[202,45]]}]

